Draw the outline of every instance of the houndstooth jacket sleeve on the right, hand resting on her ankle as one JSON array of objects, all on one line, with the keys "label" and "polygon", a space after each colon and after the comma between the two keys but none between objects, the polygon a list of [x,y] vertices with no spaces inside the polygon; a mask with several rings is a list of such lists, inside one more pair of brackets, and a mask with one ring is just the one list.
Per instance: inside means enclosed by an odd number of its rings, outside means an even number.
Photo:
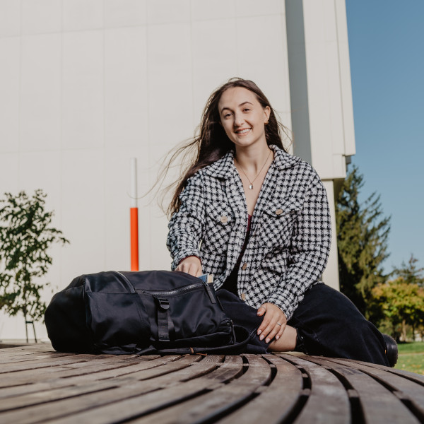
[{"label": "houndstooth jacket sleeve on the right, hand resting on her ankle", "polygon": [[326,190],[318,175],[314,179],[295,222],[287,272],[268,299],[287,319],[292,317],[305,291],[321,278],[330,252],[331,218]]}]

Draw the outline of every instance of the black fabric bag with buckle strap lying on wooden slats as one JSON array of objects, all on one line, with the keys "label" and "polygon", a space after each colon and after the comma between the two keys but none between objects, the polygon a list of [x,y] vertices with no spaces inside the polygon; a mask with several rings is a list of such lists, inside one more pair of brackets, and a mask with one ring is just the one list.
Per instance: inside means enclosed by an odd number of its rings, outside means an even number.
[{"label": "black fabric bag with buckle strap lying on wooden slats", "polygon": [[213,285],[178,271],[107,271],[74,278],[45,312],[57,351],[76,353],[241,353]]}]

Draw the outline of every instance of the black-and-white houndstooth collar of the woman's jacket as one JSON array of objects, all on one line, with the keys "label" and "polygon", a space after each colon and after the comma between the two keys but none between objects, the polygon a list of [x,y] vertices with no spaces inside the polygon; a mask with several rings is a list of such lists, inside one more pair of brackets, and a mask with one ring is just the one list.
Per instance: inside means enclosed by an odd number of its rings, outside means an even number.
[{"label": "black-and-white houndstooth collar of the woman's jacket", "polygon": [[[271,144],[269,148],[274,152],[274,166],[278,170],[285,170],[300,162],[300,158],[285,153],[285,151],[273,144]],[[229,151],[222,158],[216,160],[208,167],[205,167],[204,172],[206,175],[218,179],[229,179],[234,176],[235,172],[237,172],[234,165],[234,151]]]}]

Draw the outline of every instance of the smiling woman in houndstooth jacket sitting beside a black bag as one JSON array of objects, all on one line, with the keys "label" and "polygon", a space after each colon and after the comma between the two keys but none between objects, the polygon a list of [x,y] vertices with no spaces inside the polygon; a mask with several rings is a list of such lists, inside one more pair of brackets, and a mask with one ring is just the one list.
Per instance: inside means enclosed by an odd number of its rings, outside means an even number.
[{"label": "smiling woman in houndstooth jacket sitting beside a black bag", "polygon": [[225,311],[264,351],[389,365],[384,336],[319,281],[331,242],[326,192],[285,151],[282,130],[252,81],[232,78],[211,95],[169,209],[172,269],[212,273]]}]

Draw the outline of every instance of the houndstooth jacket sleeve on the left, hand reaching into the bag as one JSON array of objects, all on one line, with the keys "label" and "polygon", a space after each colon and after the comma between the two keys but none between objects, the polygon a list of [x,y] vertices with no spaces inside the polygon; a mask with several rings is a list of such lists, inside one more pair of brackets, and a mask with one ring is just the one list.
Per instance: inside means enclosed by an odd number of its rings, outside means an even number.
[{"label": "houndstooth jacket sleeve on the left, hand reaching into the bag", "polygon": [[168,224],[167,248],[172,257],[172,271],[184,258],[201,258],[199,243],[204,228],[204,187],[199,172],[189,178],[179,199],[181,206]]}]

